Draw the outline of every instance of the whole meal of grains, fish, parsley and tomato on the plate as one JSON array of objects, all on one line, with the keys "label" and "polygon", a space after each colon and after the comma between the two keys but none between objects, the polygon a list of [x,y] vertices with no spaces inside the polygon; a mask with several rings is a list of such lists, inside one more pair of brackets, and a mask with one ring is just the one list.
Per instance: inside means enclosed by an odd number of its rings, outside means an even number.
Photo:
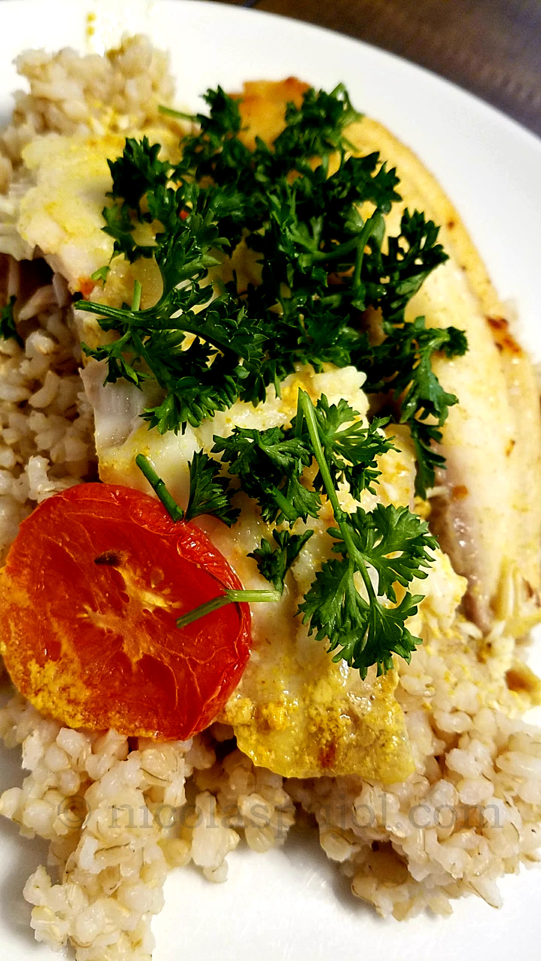
[{"label": "whole meal of grains, fish, parsley and tomato on the plate", "polygon": [[501,906],[541,845],[541,425],[458,213],[343,86],[192,117],[144,37],[17,67],[0,813],[50,844],[36,938],[148,961],[168,870],[307,818],[384,917]]}]

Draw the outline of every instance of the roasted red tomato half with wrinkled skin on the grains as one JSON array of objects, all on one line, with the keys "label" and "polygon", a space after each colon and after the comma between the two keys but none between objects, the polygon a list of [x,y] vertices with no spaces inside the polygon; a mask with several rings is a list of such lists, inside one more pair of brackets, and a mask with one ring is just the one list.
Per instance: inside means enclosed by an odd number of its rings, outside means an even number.
[{"label": "roasted red tomato half with wrinkled skin on the grains", "polygon": [[68,727],[186,740],[249,657],[247,604],[176,627],[242,584],[206,534],[128,487],[77,484],[21,524],[0,573],[0,651],[18,690]]}]

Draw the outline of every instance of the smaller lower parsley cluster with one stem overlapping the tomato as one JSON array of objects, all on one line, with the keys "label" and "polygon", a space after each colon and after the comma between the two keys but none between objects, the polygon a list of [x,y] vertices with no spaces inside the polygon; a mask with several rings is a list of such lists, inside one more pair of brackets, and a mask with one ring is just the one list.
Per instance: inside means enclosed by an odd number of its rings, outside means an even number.
[{"label": "smaller lower parsley cluster with one stem overlapping the tomato", "polygon": [[[394,653],[409,660],[420,643],[405,622],[417,612],[423,595],[412,595],[406,589],[398,600],[395,584],[407,588],[414,578],[426,577],[425,569],[432,560],[428,552],[437,541],[425,521],[407,507],[378,504],[372,513],[360,506],[353,513],[341,507],[339,478],[356,469],[357,490],[370,488],[378,474],[375,456],[392,447],[381,436],[381,425],[371,431],[360,426],[356,417],[345,402],[331,406],[322,397],[314,406],[301,390],[296,419],[289,431],[237,428],[229,438],[215,438],[213,450],[231,458],[229,472],[241,477],[245,492],[256,498],[262,512],[273,520],[286,520],[290,526],[303,515],[296,494],[291,493],[289,472],[294,472],[300,484],[305,466],[315,458],[319,471],[313,487],[324,491],[332,507],[336,527],[329,528],[328,533],[334,539],[333,552],[340,557],[322,564],[298,613],[310,634],[315,633],[317,640],[327,640],[328,650],[336,652],[335,660],[346,660],[365,678],[372,664],[377,665],[378,674],[390,670]],[[351,426],[345,427],[349,422]],[[304,484],[309,492],[305,480]],[[309,493],[315,495],[313,516],[318,516],[320,491]],[[289,501],[289,510],[283,509],[283,500]],[[260,573],[272,582],[275,597],[281,596],[287,570],[310,535],[311,531],[296,535],[274,530],[276,547],[264,539],[250,554],[257,560]],[[217,609],[217,604],[271,600],[270,592],[265,591],[234,594],[230,597],[227,591],[210,606],[196,608],[179,620],[179,627]]]}]

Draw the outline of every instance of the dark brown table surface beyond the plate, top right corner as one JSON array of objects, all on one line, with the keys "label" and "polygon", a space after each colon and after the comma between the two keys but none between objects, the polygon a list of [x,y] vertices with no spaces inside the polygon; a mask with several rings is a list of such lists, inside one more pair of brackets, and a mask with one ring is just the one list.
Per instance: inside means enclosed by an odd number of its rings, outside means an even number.
[{"label": "dark brown table surface beyond the plate, top right corner", "polygon": [[229,0],[374,43],[541,136],[541,0]]}]

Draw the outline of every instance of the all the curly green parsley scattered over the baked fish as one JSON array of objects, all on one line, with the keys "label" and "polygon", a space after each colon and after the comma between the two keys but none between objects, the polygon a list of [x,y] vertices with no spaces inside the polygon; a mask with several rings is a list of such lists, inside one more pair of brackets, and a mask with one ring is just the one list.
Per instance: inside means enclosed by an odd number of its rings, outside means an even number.
[{"label": "all the curly green parsley scattered over the baked fish", "polygon": [[[435,468],[444,466],[433,442],[457,399],[438,382],[431,359],[463,354],[466,340],[454,328],[426,330],[423,317],[406,323],[404,311],[447,255],[438,228],[419,211],[406,210],[399,235],[386,236],[398,179],[376,153],[350,156],[345,129],[359,115],[344,86],[308,90],[300,108],[288,106],[283,133],[272,145],[257,140],[254,150],[243,142],[237,101],[220,87],[205,100],[208,115],[187,117],[199,130],[184,136],[176,165],[145,137],[128,138],[122,156],[109,161],[113,202],[103,229],[114,238],[114,257],[155,259],[163,293],[143,310],[137,285],[122,308],[79,301],[117,334],[113,343],[84,349],[107,361],[106,382],[159,385],[161,396],[142,417],[162,433],[198,427],[239,399],[257,406],[270,386],[279,394],[299,364],[319,371],[353,363],[366,372],[366,389],[383,395],[383,409],[387,397],[388,416],[367,426],[346,401],[329,405],[322,397],[314,406],[299,391],[291,428],[235,428],[215,436],[210,455],[193,456],[186,512],[149,461],[137,458],[173,520],[212,513],[232,525],[239,513],[232,498],[241,490],[270,526],[250,556],[272,589],[227,590],[180,618],[179,627],[223,604],[277,601],[312,534],[309,519],[329,504],[336,556],[322,564],[297,613],[335,660],[344,658],[364,678],[372,664],[387,671],[394,653],[409,660],[419,643],[405,622],[422,596],[408,587],[426,577],[436,541],[406,507],[348,513],[340,490],[346,485],[356,500],[375,492],[377,458],[393,447],[381,430],[391,418],[410,428],[418,494],[425,496]],[[333,155],[337,169],[329,176]],[[367,202],[370,212],[361,212]],[[142,224],[151,225],[152,242],[136,239]],[[235,276],[219,280],[241,241],[261,273],[261,283],[246,289]],[[107,283],[107,271],[94,279]],[[380,317],[380,343],[363,330],[367,308]]]}]

